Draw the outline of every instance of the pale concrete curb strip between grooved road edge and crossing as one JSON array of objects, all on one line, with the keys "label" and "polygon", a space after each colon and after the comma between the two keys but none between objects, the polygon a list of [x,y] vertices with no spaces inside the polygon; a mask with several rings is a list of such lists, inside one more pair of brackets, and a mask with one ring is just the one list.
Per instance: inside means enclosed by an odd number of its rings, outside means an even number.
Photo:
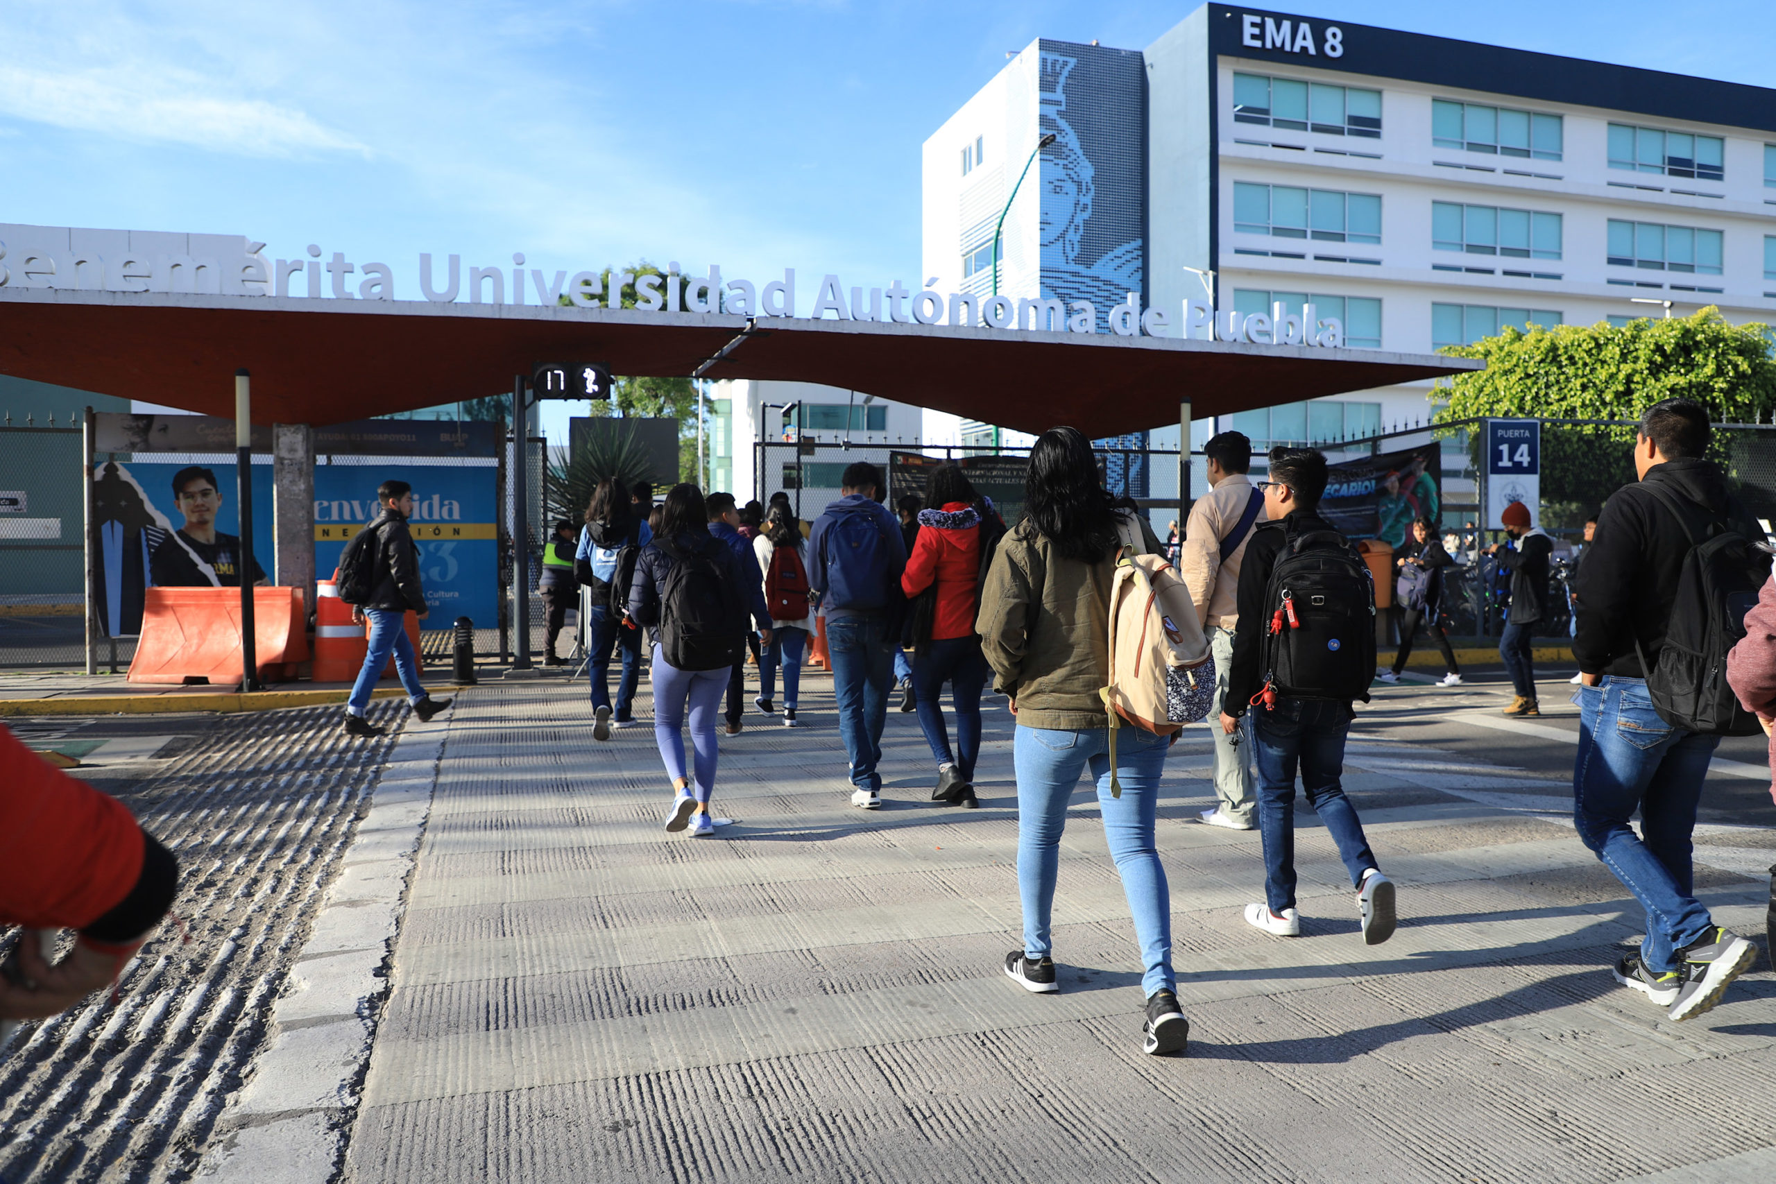
[{"label": "pale concrete curb strip between grooved road edge and crossing", "polygon": [[369,813],[272,1008],[266,1044],[217,1118],[197,1177],[243,1184],[337,1177],[446,735],[444,722],[408,719],[389,749]]}]

